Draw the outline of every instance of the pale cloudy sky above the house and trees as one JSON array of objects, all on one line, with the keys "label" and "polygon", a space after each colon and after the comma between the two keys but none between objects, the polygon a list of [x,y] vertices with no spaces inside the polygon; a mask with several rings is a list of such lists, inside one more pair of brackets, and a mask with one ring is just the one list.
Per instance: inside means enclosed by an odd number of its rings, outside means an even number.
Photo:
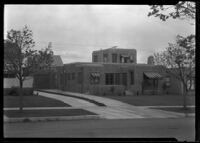
[{"label": "pale cloudy sky above the house and trees", "polygon": [[137,50],[137,63],[147,63],[163,51],[176,35],[195,33],[186,20],[148,17],[148,5],[5,5],[4,36],[27,25],[35,49],[52,42],[63,63],[91,62],[92,51],[113,46]]}]

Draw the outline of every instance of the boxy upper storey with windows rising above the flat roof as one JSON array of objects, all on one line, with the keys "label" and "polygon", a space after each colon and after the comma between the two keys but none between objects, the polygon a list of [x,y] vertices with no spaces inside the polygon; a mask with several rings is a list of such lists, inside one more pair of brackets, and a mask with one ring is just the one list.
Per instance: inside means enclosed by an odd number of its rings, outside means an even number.
[{"label": "boxy upper storey with windows rising above the flat roof", "polygon": [[119,49],[116,46],[93,51],[92,62],[95,63],[137,63],[135,49]]}]

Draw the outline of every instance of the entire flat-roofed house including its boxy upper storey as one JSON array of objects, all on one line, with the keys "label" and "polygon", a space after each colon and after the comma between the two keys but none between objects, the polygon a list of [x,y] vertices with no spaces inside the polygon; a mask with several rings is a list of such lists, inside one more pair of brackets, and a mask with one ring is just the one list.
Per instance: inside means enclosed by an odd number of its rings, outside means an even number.
[{"label": "entire flat-roofed house including its boxy upper storey", "polygon": [[[163,94],[165,67],[137,64],[135,49],[94,51],[91,63],[64,64],[57,73],[58,89],[94,95]],[[151,58],[150,58],[151,59]]]}]

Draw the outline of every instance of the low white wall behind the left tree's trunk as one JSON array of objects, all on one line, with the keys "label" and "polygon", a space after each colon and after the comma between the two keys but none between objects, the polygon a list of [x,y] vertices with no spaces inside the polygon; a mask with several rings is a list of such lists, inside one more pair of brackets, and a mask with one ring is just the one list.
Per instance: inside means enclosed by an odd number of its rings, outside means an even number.
[{"label": "low white wall behind the left tree's trunk", "polygon": [[[11,88],[13,86],[19,87],[19,80],[17,78],[4,78],[3,87]],[[32,88],[33,87],[33,77],[27,77],[27,80],[24,80],[23,87]]]}]

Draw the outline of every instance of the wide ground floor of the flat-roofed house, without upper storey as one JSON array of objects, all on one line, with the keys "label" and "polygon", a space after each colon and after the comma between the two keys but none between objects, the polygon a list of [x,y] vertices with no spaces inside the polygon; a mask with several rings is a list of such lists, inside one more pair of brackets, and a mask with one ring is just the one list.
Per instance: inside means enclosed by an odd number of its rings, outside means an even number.
[{"label": "wide ground floor of the flat-roofed house, without upper storey", "polygon": [[[163,70],[162,70],[163,69]],[[94,95],[163,93],[161,66],[132,63],[71,63],[60,73],[61,90]]]}]

